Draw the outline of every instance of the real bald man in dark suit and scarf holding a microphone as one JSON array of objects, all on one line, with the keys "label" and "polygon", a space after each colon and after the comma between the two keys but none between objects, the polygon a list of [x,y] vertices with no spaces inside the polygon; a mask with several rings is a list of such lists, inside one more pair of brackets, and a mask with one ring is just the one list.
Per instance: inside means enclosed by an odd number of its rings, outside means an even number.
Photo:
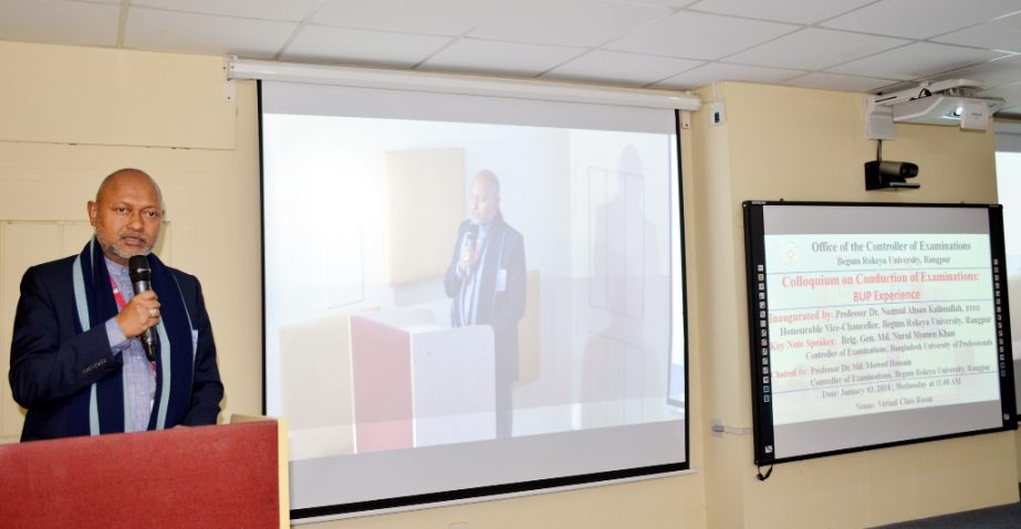
[{"label": "real bald man in dark suit and scarf holding a microphone", "polygon": [[[121,169],[87,211],[95,235],[82,252],[33,266],[21,281],[9,374],[28,410],[21,440],[215,424],[223,385],[201,286],[152,253],[164,216],[159,187]],[[152,285],[138,294],[128,272],[136,256]]]}]

